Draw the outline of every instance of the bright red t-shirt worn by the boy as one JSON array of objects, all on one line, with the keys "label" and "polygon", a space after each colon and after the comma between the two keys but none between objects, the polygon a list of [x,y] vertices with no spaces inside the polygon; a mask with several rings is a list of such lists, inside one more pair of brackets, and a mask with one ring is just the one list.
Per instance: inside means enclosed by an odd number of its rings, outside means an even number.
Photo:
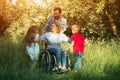
[{"label": "bright red t-shirt worn by the boy", "polygon": [[74,54],[78,54],[80,53],[84,53],[84,41],[85,41],[85,37],[80,34],[80,33],[74,33],[71,36],[71,40],[74,41],[74,45],[73,45],[73,53]]}]

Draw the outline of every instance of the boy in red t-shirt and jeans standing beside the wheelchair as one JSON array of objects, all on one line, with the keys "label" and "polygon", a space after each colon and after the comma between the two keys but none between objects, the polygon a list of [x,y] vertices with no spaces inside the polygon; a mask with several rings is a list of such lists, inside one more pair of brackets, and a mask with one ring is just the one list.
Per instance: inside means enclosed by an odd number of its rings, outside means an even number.
[{"label": "boy in red t-shirt and jeans standing beside the wheelchair", "polygon": [[74,70],[77,72],[81,68],[81,59],[84,53],[84,47],[88,43],[86,38],[79,33],[80,26],[73,25],[71,27],[73,35],[71,36],[71,44],[69,47],[65,48],[64,50],[68,50],[73,47],[73,54],[74,54]]}]

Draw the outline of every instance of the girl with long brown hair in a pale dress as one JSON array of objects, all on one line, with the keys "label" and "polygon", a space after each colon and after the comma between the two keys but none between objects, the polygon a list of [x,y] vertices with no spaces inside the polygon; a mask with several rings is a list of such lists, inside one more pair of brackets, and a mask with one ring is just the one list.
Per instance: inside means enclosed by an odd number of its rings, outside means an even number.
[{"label": "girl with long brown hair in a pale dress", "polygon": [[40,37],[38,33],[38,28],[36,26],[31,26],[28,29],[27,34],[23,39],[23,43],[26,46],[27,54],[32,60],[32,66],[31,66],[31,70],[32,70],[37,63],[40,53],[39,50]]}]

